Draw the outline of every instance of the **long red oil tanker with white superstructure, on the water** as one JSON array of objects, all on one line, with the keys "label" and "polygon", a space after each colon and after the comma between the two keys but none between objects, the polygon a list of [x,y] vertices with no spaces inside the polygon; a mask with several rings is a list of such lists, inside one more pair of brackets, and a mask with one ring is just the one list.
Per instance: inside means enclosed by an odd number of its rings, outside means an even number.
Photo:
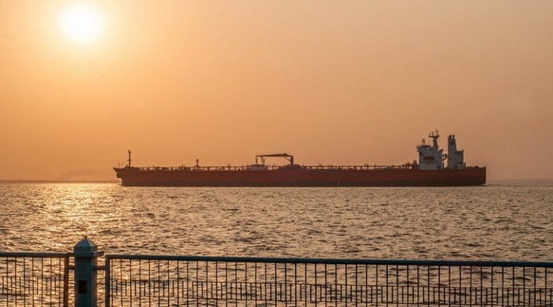
[{"label": "long red oil tanker with white superstructure, on the water", "polygon": [[[479,186],[486,183],[486,168],[467,166],[464,150],[457,150],[455,135],[447,139],[447,154],[422,139],[419,161],[400,166],[303,166],[287,153],[257,155],[247,166],[147,166],[131,164],[131,150],[124,167],[113,168],[122,186]],[[266,158],[282,157],[284,166],[265,165]]]}]

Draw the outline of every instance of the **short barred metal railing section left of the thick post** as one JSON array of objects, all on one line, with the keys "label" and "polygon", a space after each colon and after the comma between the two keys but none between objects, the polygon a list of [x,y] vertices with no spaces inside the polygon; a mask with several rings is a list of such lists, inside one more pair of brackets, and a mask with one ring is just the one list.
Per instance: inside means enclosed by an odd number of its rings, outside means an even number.
[{"label": "short barred metal railing section left of the thick post", "polygon": [[0,252],[0,306],[68,306],[69,254]]}]

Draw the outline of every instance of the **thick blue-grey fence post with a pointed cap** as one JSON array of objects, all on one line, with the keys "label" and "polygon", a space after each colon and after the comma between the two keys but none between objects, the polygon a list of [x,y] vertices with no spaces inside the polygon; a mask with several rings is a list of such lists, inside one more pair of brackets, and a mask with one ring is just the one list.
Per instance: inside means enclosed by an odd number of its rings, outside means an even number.
[{"label": "thick blue-grey fence post with a pointed cap", "polygon": [[84,237],[73,247],[75,257],[75,307],[97,307],[97,257],[104,255],[99,252],[96,244]]}]

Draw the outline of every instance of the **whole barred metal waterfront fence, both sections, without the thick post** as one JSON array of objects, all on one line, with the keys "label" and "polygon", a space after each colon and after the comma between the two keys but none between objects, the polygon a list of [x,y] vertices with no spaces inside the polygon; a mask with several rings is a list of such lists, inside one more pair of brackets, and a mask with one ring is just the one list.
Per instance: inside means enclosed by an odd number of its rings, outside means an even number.
[{"label": "whole barred metal waterfront fence, both sections, without the thick post", "polygon": [[0,252],[0,307],[553,306],[553,262],[102,255]]}]

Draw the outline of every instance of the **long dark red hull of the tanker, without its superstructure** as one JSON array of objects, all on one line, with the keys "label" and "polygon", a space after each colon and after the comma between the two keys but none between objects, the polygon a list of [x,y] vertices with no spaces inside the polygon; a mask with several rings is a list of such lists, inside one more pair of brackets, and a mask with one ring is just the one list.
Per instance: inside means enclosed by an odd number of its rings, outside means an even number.
[{"label": "long dark red hull of the tanker, without its superstructure", "polygon": [[480,186],[486,168],[462,170],[142,170],[114,168],[122,186]]}]

